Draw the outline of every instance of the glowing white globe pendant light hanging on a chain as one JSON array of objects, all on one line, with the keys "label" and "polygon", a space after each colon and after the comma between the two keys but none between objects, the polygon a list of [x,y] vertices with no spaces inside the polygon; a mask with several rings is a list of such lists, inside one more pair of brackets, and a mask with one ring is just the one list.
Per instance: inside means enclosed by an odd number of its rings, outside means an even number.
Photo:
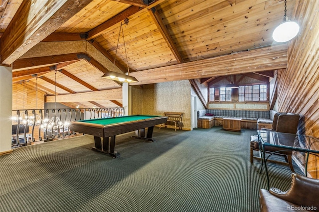
[{"label": "glowing white globe pendant light hanging on a chain", "polygon": [[273,38],[277,42],[287,42],[293,39],[299,32],[299,25],[294,21],[289,21],[287,17],[287,0],[285,0],[285,15],[283,23],[276,27]]}]

